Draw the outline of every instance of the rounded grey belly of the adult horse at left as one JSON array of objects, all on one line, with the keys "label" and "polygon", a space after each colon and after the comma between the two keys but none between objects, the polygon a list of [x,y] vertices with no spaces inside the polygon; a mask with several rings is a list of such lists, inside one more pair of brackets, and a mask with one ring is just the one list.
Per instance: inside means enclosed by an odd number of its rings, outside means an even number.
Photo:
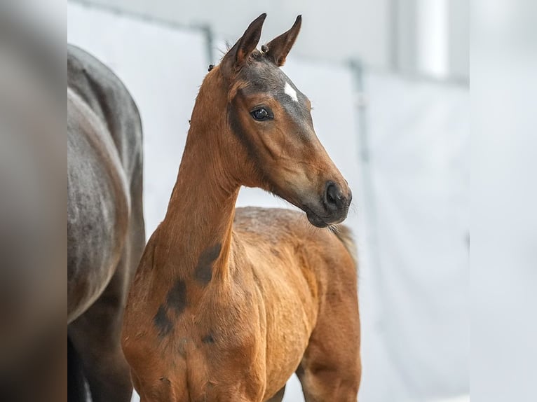
[{"label": "rounded grey belly of the adult horse at left", "polygon": [[[86,127],[88,130],[88,127]],[[67,139],[67,317],[76,319],[107,286],[121,257],[129,207],[125,177],[111,149],[84,132]],[[97,135],[99,134],[99,135]]]}]

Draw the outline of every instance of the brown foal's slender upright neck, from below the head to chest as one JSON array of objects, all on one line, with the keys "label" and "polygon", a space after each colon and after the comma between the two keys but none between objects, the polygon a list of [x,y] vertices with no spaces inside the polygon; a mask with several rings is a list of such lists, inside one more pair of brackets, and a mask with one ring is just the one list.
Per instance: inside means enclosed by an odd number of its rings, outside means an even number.
[{"label": "brown foal's slender upright neck, from below the head to chest", "polygon": [[196,127],[219,130],[192,122],[158,248],[173,275],[205,286],[227,278],[240,186],[226,175],[221,155],[210,153],[218,148],[208,144],[217,133]]}]

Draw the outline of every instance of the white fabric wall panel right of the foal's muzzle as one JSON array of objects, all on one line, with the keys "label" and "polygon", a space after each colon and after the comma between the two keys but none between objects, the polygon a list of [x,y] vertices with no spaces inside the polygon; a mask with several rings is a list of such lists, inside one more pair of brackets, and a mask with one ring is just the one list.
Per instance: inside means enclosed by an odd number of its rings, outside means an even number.
[{"label": "white fabric wall panel right of the foal's muzzle", "polygon": [[363,400],[467,394],[468,89],[366,74],[365,92],[375,327]]}]

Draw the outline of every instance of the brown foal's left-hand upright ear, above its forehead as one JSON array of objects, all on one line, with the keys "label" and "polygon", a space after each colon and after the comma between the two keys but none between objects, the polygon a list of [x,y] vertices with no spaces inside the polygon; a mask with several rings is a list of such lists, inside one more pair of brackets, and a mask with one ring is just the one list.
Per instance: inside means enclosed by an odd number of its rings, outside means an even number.
[{"label": "brown foal's left-hand upright ear, above its forehead", "polygon": [[261,28],[265,21],[266,13],[259,15],[247,27],[243,36],[229,49],[228,53],[222,59],[222,72],[231,76],[243,67],[250,54],[254,51],[261,38]]}]

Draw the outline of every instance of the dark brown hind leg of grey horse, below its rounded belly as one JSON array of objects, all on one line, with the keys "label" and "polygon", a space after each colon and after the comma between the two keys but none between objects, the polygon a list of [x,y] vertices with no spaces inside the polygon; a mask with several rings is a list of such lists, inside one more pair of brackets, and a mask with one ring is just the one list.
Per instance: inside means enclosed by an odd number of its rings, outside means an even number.
[{"label": "dark brown hind leg of grey horse, below its rounded belly", "polygon": [[100,298],[67,327],[93,402],[130,402],[132,395],[130,368],[121,350],[121,326],[130,282],[145,245],[141,172],[140,164],[130,190],[129,235],[114,277]]}]

